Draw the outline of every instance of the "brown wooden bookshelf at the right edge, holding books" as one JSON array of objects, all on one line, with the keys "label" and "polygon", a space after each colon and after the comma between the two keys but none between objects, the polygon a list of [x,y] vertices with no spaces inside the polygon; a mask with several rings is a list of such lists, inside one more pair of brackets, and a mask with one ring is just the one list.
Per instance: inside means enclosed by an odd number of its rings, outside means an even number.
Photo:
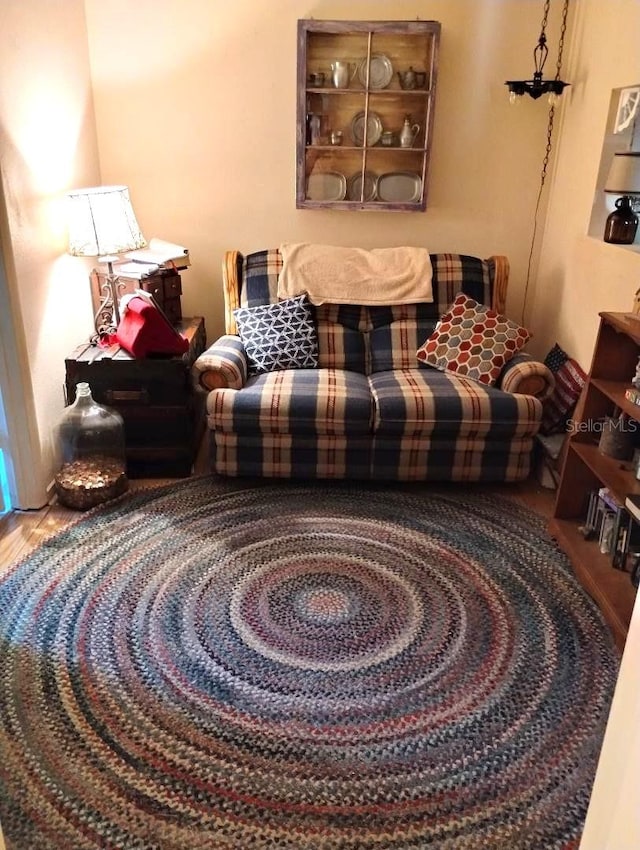
[{"label": "brown wooden bookshelf at the right edge, holding books", "polygon": [[585,540],[579,527],[591,491],[608,487],[622,505],[629,493],[640,494],[631,461],[607,457],[598,448],[599,423],[614,413],[627,414],[629,428],[640,436],[640,407],[625,398],[640,356],[640,319],[627,313],[599,315],[591,369],[567,440],[549,532],[571,560],[576,576],[599,605],[622,649],[636,590],[629,572],[615,569],[611,557],[600,552],[597,541]]}]

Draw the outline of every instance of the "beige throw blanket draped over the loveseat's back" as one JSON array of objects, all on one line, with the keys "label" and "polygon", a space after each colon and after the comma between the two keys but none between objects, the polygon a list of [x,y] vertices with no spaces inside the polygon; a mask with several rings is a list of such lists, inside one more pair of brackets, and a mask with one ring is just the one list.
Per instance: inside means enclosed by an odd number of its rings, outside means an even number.
[{"label": "beige throw blanket draped over the loveseat's back", "polygon": [[312,304],[416,304],[433,301],[425,248],[340,248],[307,242],[280,246],[278,298],[306,292]]}]

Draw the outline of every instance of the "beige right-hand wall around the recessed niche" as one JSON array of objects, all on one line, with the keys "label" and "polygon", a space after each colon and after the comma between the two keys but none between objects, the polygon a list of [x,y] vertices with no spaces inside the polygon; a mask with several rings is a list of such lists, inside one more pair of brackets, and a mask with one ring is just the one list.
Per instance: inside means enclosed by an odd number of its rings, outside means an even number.
[{"label": "beige right-hand wall around the recessed niche", "polygon": [[[556,339],[588,369],[598,312],[630,310],[640,287],[633,248],[587,235],[611,89],[640,83],[638,0],[579,0],[569,97],[560,126],[532,324],[539,351]],[[630,376],[631,378],[631,376]]]}]

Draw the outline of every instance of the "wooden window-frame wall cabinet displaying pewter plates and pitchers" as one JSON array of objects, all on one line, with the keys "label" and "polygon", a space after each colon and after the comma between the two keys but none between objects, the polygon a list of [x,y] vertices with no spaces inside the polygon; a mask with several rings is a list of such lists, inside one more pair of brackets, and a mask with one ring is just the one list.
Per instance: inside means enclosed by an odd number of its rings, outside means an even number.
[{"label": "wooden window-frame wall cabinet displaying pewter plates and pitchers", "polygon": [[298,21],[299,209],[426,209],[439,39],[437,21]]}]

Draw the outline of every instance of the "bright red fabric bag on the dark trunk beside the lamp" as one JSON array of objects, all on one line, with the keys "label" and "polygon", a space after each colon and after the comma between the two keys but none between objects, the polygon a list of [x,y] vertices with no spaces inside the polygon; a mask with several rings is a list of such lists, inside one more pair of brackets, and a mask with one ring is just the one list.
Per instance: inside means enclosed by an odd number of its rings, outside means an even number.
[{"label": "bright red fabric bag on the dark trunk beside the lamp", "polygon": [[184,354],[189,348],[188,339],[179,334],[153,304],[140,296],[127,301],[116,339],[134,357]]}]

